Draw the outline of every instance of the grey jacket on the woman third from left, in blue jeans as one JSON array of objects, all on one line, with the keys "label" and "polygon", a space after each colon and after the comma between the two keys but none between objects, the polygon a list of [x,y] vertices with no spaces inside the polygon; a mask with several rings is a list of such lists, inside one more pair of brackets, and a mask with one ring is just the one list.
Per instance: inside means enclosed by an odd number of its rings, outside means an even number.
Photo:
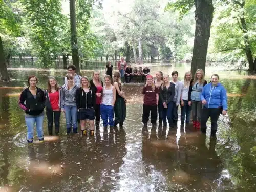
[{"label": "grey jacket on the woman third from left, in blue jeans", "polygon": [[60,106],[61,109],[64,109],[64,105],[68,106],[74,106],[76,105],[76,90],[79,87],[75,84],[72,90],[68,90],[67,84],[64,84],[61,87],[61,92],[60,92]]}]

